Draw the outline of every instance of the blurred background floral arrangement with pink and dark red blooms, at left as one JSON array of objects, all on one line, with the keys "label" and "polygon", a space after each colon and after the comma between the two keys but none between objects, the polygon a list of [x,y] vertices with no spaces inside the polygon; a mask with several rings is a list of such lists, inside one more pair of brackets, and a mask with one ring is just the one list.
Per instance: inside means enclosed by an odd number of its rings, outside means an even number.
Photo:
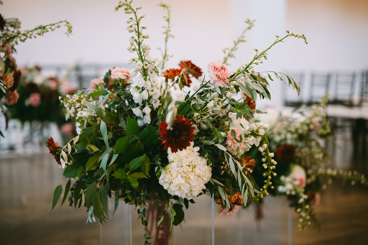
[{"label": "blurred background floral arrangement with pink and dark red blooms, at left", "polygon": [[[69,69],[72,71],[72,69]],[[61,133],[70,137],[73,131],[71,122],[66,122],[64,107],[59,101],[60,96],[76,90],[67,79],[48,77],[42,74],[37,65],[21,70],[22,78],[17,89],[18,102],[9,107],[10,117],[25,122],[54,122],[60,127]]]}]

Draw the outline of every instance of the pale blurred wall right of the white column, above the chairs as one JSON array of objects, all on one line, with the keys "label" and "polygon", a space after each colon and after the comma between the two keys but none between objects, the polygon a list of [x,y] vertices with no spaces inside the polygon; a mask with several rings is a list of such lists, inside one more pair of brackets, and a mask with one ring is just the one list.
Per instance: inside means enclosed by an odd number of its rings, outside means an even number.
[{"label": "pale blurred wall right of the white column, above the chairs", "polygon": [[308,44],[289,46],[292,69],[367,69],[367,0],[289,0],[287,28],[300,30]]}]

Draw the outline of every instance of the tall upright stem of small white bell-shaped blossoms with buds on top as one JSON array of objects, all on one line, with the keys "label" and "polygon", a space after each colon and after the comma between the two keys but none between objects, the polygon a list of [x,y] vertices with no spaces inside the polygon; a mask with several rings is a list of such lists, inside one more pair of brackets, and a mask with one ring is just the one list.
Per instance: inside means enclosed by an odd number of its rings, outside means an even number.
[{"label": "tall upright stem of small white bell-shaped blossoms with buds on top", "polygon": [[[139,9],[140,7],[138,7]],[[131,11],[126,9],[126,12]],[[139,22],[145,15],[139,15],[136,19],[129,17],[127,23],[128,32],[135,33],[135,36],[129,37],[127,50],[131,53],[136,52],[137,56],[128,58],[127,64],[136,64],[130,70],[133,77],[130,93],[138,107],[133,109],[136,116],[140,117],[139,123],[151,123],[151,111],[160,106],[161,84],[164,78],[158,76],[158,69],[155,66],[156,58],[150,55],[151,46],[144,44],[144,40],[149,35],[142,33],[147,26],[139,26]]]}]

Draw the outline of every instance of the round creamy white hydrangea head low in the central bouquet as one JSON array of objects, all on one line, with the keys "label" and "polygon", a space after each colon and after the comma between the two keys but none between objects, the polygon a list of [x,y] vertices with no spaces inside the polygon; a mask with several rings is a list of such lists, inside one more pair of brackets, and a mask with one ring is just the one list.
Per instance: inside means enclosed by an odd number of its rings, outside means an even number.
[{"label": "round creamy white hydrangea head low in the central bouquet", "polygon": [[172,153],[168,149],[169,164],[164,167],[159,183],[170,195],[192,199],[197,197],[212,176],[212,169],[205,158],[199,156],[194,143],[182,151]]}]

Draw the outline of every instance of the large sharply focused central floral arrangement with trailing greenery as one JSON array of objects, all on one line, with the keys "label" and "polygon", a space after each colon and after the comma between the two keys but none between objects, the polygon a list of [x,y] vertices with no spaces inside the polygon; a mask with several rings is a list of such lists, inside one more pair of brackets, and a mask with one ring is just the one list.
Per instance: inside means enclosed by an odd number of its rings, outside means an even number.
[{"label": "large sharply focused central floral arrangement with trailing greenery", "polygon": [[[107,199],[114,198],[137,207],[144,226],[143,241],[149,243],[150,231],[146,203],[158,198],[169,212],[171,226],[184,219],[184,207],[204,193],[213,196],[221,210],[246,206],[269,194],[276,176],[273,153],[266,131],[269,125],[254,120],[255,101],[270,99],[269,80],[285,80],[299,93],[300,87],[286,73],[255,72],[255,66],[267,59],[267,51],[287,37],[304,35],[287,31],[263,51],[254,48],[250,62],[230,71],[226,64],[244,41],[245,30],[224,50],[224,60],[208,64],[209,78],[191,61],[181,61],[178,68],[166,69],[169,59],[167,41],[171,35],[170,8],[165,19],[165,46],[162,58],[150,54],[147,26],[142,24],[141,7],[121,1],[131,16],[127,30],[131,33],[127,50],[132,54],[131,70],[114,67],[105,76],[91,81],[91,89],[77,91],[61,98],[67,113],[76,120],[81,133],[64,146],[49,139],[47,145],[70,178],[62,198],[71,206],[88,209],[88,219],[107,220]],[[273,78],[272,78],[273,77]],[[195,83],[200,85],[195,88]],[[191,92],[190,87],[195,91]],[[254,163],[250,149],[264,154]],[[265,185],[258,188],[252,177],[253,165],[264,165]],[[75,178],[75,179],[74,179]],[[59,184],[52,202],[54,208],[63,192]]]}]

